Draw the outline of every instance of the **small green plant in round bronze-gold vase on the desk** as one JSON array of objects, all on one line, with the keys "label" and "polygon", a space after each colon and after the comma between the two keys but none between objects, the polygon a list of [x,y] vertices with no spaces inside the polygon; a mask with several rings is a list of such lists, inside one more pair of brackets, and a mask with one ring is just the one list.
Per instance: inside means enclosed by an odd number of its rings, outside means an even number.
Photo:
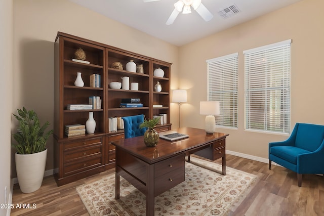
[{"label": "small green plant in round bronze-gold vase on the desk", "polygon": [[154,147],[156,146],[158,140],[160,139],[158,133],[155,131],[155,125],[160,122],[160,116],[144,120],[143,123],[140,124],[140,128],[147,127],[148,129],[144,133],[144,143],[147,147]]}]

